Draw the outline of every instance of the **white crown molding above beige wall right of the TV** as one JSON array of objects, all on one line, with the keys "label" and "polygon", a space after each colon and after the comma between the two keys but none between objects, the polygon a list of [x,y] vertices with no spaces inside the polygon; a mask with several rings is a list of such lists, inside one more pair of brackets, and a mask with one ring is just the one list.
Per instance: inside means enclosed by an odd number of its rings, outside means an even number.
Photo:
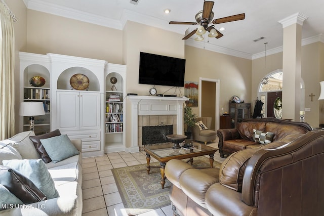
[{"label": "white crown molding above beige wall right of the TV", "polygon": [[226,54],[226,55],[230,55],[230,56],[235,56],[235,57],[239,57],[239,58],[250,59],[250,60],[252,59],[252,55],[249,53],[244,53],[244,52],[240,52],[237,50],[220,47],[220,46],[209,44],[206,42],[204,44],[203,41],[195,41],[194,39],[191,39],[191,38],[189,38],[185,41],[185,45],[195,47],[195,48],[209,50],[212,52],[222,53],[222,54]]}]

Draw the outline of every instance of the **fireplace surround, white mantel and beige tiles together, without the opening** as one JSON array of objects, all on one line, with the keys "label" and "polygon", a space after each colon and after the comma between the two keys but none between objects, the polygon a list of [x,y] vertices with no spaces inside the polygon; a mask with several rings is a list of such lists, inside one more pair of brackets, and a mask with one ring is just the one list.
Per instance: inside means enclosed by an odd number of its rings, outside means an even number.
[{"label": "fireplace surround, white mantel and beige tiles together, without the opening", "polygon": [[143,150],[142,127],[161,124],[173,125],[174,134],[183,134],[183,103],[189,98],[128,96],[131,103],[130,152]]}]

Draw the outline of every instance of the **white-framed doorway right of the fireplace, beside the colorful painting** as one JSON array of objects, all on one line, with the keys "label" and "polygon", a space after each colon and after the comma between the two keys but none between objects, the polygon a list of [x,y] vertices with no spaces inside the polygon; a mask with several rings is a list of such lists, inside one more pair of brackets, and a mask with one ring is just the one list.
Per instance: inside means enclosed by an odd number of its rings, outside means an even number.
[{"label": "white-framed doorway right of the fireplace, beside the colorful painting", "polygon": [[220,80],[199,78],[199,117],[212,117],[210,129],[219,129]]}]

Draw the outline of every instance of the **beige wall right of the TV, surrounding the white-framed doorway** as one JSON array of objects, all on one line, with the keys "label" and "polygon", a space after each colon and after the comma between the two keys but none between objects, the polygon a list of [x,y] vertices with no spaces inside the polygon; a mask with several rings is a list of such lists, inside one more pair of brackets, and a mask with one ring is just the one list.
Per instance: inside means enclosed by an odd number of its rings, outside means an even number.
[{"label": "beige wall right of the TV, surrounding the white-framed doorway", "polygon": [[[251,103],[251,60],[190,46],[185,46],[185,58],[186,81],[198,82],[199,77],[220,80],[220,112],[228,112],[228,101],[234,95]],[[193,111],[198,114],[198,107]]]}]

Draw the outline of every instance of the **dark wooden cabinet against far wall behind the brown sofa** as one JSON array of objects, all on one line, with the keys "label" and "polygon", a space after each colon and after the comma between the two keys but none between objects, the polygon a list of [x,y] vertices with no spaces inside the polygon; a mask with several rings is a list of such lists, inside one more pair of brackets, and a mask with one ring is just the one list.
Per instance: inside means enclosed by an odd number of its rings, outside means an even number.
[{"label": "dark wooden cabinet against far wall behind the brown sofa", "polygon": [[237,128],[237,123],[251,117],[251,104],[229,102],[231,128]]}]

